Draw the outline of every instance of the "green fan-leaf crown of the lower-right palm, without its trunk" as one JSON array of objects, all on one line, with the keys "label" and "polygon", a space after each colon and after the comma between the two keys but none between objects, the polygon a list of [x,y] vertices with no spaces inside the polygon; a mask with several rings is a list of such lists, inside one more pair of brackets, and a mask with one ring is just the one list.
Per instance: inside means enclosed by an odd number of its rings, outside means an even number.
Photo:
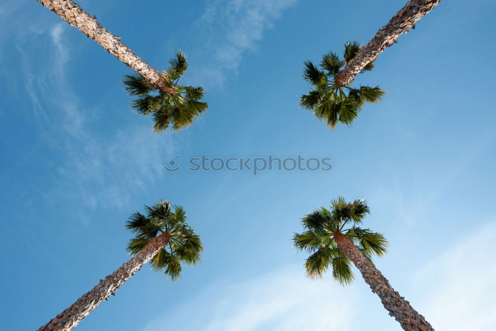
[{"label": "green fan-leaf crown of the lower-right palm, without its trunk", "polygon": [[293,243],[297,249],[311,253],[305,264],[309,277],[322,277],[332,266],[334,279],[342,285],[349,285],[355,279],[351,261],[334,240],[338,233],[349,237],[371,262],[373,256],[386,253],[387,241],[382,234],[358,227],[369,213],[365,200],[350,202],[339,197],[331,202],[330,209],[321,207],[302,218],[305,231],[295,233]]}]

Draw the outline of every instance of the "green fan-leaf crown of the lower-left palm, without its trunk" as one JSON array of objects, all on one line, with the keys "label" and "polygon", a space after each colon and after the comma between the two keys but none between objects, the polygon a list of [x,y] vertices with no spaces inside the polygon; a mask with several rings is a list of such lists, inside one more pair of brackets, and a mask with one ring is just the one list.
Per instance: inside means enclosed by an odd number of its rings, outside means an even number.
[{"label": "green fan-leaf crown of the lower-left palm, without its trunk", "polygon": [[186,224],[186,212],[182,206],[161,201],[153,207],[145,206],[146,216],[135,212],[127,220],[125,227],[136,234],[129,241],[127,252],[136,255],[153,238],[161,234],[170,235],[168,245],[152,259],[154,271],[163,271],[171,280],[181,276],[181,264],[196,265],[200,261],[203,246],[200,237]]}]

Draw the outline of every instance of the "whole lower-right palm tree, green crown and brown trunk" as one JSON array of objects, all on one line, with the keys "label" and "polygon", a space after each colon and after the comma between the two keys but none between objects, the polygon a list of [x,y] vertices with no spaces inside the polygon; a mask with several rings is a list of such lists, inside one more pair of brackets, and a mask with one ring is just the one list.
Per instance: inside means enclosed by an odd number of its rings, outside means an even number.
[{"label": "whole lower-right palm tree, green crown and brown trunk", "polygon": [[307,275],[322,277],[332,267],[334,279],[348,285],[355,279],[351,270],[353,262],[372,292],[379,296],[384,308],[404,330],[433,331],[426,319],[373,265],[372,257],[386,253],[388,243],[382,234],[358,227],[366,214],[370,214],[366,201],[350,202],[339,197],[331,202],[330,209],[321,207],[302,219],[305,231],[295,233],[293,242],[297,249],[311,253],[305,264]]}]

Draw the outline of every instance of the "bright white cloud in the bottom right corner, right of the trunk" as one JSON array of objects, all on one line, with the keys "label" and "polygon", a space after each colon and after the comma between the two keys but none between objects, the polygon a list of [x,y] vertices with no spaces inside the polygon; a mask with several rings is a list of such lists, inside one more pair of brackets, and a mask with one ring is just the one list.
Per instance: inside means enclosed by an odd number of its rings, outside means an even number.
[{"label": "bright white cloud in the bottom right corner, right of the trunk", "polygon": [[417,291],[425,293],[419,312],[436,330],[485,331],[496,325],[496,222],[472,235],[469,225],[415,281]]}]

